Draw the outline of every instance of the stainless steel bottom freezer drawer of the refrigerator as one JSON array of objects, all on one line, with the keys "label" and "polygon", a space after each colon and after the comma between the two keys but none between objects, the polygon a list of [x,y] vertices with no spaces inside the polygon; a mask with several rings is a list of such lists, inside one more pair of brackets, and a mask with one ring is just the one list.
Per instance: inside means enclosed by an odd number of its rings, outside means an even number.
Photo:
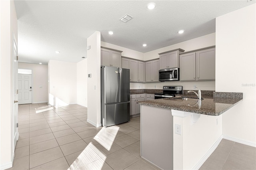
[{"label": "stainless steel bottom freezer drawer of the refrigerator", "polygon": [[109,127],[130,121],[130,102],[104,105],[102,126]]}]

